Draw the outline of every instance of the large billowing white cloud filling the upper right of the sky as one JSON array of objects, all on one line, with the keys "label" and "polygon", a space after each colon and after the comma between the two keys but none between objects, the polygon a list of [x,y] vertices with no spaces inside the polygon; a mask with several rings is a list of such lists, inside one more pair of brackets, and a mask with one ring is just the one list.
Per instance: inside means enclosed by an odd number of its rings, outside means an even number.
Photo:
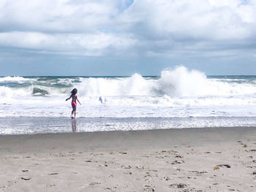
[{"label": "large billowing white cloud filling the upper right of the sky", "polygon": [[223,57],[255,50],[255,13],[256,3],[244,0],[140,0],[119,22],[135,34],[146,55]]}]

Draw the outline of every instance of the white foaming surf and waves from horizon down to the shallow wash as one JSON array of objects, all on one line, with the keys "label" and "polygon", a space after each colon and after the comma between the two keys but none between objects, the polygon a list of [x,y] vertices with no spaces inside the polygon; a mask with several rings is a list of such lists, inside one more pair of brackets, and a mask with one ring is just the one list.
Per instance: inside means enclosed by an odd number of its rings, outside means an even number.
[{"label": "white foaming surf and waves from horizon down to the shallow wash", "polygon": [[1,77],[0,117],[68,116],[72,88],[80,117],[256,117],[255,79],[208,78],[184,66],[160,77]]}]

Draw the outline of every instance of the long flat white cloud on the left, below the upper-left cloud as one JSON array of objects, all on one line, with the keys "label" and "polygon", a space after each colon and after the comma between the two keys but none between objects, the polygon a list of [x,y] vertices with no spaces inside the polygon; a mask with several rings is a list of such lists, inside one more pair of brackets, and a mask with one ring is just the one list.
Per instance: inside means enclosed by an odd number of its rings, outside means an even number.
[{"label": "long flat white cloud on the left, below the upper-left cloud", "polygon": [[103,33],[54,35],[18,31],[0,33],[1,47],[48,51],[43,53],[55,52],[71,55],[102,55],[108,52],[109,47],[113,47],[121,52],[132,45],[135,45],[135,40],[131,37],[118,37]]}]

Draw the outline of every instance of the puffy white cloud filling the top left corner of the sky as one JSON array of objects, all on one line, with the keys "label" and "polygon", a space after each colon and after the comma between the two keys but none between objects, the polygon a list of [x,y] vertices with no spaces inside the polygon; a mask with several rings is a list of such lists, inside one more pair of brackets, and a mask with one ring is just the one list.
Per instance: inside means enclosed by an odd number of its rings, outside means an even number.
[{"label": "puffy white cloud filling the top left corner of the sky", "polygon": [[0,6],[0,26],[7,30],[91,31],[110,22],[113,1],[20,0]]}]

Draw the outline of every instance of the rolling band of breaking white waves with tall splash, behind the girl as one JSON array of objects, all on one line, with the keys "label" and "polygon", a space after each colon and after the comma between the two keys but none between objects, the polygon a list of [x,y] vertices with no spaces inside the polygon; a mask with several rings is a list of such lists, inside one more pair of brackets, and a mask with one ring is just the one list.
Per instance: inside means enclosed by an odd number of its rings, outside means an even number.
[{"label": "rolling band of breaking white waves with tall splash, behind the girl", "polygon": [[39,94],[63,96],[78,88],[90,96],[238,96],[256,93],[254,81],[208,78],[203,72],[184,66],[164,70],[160,77],[1,77],[0,96],[15,97]]}]

